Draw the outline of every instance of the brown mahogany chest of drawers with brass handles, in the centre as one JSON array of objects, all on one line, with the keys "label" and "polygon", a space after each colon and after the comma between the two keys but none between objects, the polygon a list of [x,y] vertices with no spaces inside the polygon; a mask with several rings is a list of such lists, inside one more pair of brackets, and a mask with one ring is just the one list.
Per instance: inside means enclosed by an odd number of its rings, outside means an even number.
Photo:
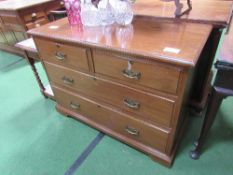
[{"label": "brown mahogany chest of drawers with brass handles, in the centre", "polygon": [[171,165],[210,25],[135,17],[130,26],[29,31],[57,110]]}]

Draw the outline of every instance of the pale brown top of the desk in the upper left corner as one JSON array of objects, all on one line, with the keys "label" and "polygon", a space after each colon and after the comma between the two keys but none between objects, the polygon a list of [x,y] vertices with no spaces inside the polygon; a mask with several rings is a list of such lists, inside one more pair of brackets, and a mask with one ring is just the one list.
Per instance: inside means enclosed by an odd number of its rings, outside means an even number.
[{"label": "pale brown top of the desk in the upper left corner", "polygon": [[3,0],[0,1],[0,10],[20,10],[50,1],[54,0]]}]

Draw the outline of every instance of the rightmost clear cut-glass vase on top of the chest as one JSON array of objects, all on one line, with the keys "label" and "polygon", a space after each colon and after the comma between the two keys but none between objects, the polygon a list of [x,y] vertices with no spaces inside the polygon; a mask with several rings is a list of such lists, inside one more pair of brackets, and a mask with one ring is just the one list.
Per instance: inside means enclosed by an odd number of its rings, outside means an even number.
[{"label": "rightmost clear cut-glass vase on top of the chest", "polygon": [[114,16],[115,20],[120,25],[129,25],[133,20],[132,3],[128,0],[117,0],[114,3]]}]

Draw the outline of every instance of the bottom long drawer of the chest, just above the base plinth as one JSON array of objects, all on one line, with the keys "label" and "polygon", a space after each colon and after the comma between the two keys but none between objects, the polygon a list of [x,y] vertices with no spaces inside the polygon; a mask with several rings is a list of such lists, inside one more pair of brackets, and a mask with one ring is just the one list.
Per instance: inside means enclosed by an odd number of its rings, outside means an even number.
[{"label": "bottom long drawer of the chest, just above the base plinth", "polygon": [[62,88],[53,86],[53,90],[58,104],[68,110],[88,117],[124,137],[165,152],[169,132]]}]

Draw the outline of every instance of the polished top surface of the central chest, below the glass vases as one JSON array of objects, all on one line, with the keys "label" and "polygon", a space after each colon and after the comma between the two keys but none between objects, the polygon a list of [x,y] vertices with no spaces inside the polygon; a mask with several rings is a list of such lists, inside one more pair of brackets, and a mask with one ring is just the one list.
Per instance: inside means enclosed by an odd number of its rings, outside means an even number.
[{"label": "polished top surface of the central chest, below the glass vases", "polygon": [[211,33],[205,24],[135,17],[129,26],[71,27],[67,18],[30,30],[33,36],[195,66]]}]

